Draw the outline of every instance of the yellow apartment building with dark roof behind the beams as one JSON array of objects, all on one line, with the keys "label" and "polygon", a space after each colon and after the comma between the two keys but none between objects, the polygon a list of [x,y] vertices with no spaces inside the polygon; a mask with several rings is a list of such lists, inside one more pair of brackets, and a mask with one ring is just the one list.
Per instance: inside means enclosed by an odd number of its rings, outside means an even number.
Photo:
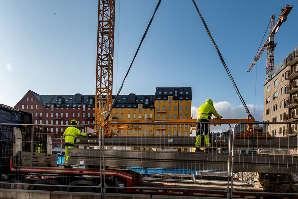
[{"label": "yellow apartment building with dark roof behind the beams", "polygon": [[[114,96],[113,96],[114,97]],[[114,99],[113,99],[114,100]],[[119,95],[112,110],[114,121],[147,120],[152,124],[130,125],[119,130],[112,127],[112,133],[117,136],[143,137],[182,137],[190,136],[191,126],[179,124],[181,119],[191,119],[191,87],[157,87],[155,95]],[[154,122],[172,120],[177,123],[154,124]],[[155,147],[155,146],[152,146]],[[152,147],[133,146],[135,150],[151,150]],[[156,148],[190,151],[188,147],[156,146]]]}]

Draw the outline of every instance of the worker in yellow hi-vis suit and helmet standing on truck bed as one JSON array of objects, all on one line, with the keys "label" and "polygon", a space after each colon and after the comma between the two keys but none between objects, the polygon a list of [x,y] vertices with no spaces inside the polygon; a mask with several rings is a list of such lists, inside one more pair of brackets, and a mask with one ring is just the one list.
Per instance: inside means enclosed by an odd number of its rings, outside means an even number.
[{"label": "worker in yellow hi-vis suit and helmet standing on truck bed", "polygon": [[[71,125],[77,125],[77,120],[73,119],[70,121]],[[63,133],[63,137],[65,138],[64,144],[65,144],[65,160],[64,160],[64,168],[72,168],[71,165],[68,165],[68,149],[75,147],[75,141],[77,136],[88,136],[88,133],[82,133],[80,130],[78,130],[75,126],[70,126],[67,129],[65,129]]]}]

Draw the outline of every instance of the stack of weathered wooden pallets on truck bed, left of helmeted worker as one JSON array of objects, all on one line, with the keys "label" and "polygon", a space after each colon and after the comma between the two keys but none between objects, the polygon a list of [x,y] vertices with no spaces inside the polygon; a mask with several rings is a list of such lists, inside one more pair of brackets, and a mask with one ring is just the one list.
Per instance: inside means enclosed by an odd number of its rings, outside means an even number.
[{"label": "stack of weathered wooden pallets on truck bed, left of helmeted worker", "polygon": [[[19,158],[21,166],[31,166],[31,152],[19,151]],[[47,153],[33,153],[32,166],[33,167],[57,167],[58,156]]]}]

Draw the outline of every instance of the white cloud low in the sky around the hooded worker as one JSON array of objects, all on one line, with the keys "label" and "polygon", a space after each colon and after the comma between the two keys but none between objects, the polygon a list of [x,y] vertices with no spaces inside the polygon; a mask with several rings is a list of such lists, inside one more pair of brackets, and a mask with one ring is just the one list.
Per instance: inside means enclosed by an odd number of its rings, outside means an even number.
[{"label": "white cloud low in the sky around the hooded worker", "polygon": [[[224,119],[237,119],[237,118],[247,118],[247,113],[242,105],[232,107],[232,105],[227,101],[220,101],[214,103],[214,108],[216,111],[223,116]],[[247,105],[250,113],[254,116],[256,121],[263,122],[263,106],[254,106],[251,104]],[[192,106],[192,119],[196,119],[197,111],[199,107]]]}]

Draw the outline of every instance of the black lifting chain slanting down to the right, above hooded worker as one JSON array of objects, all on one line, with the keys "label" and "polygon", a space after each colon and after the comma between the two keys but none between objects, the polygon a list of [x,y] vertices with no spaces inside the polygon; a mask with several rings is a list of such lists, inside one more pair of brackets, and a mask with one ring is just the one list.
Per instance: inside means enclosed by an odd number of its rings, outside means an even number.
[{"label": "black lifting chain slanting down to the right, above hooded worker", "polygon": [[197,11],[198,11],[198,13],[199,13],[199,15],[200,15],[200,17],[201,17],[201,20],[202,20],[202,22],[203,22],[203,24],[204,24],[204,26],[205,26],[205,28],[206,28],[206,30],[207,30],[207,33],[209,34],[209,37],[210,37],[210,39],[211,39],[211,41],[212,41],[212,43],[213,43],[213,45],[214,45],[214,48],[215,48],[215,50],[216,50],[216,52],[217,52],[217,54],[218,54],[218,56],[219,56],[221,62],[223,63],[224,68],[226,69],[228,76],[230,77],[230,80],[231,80],[231,82],[232,82],[232,84],[233,84],[233,86],[234,86],[234,88],[235,88],[235,91],[236,91],[236,93],[237,93],[237,95],[238,95],[238,97],[239,97],[239,99],[240,99],[240,101],[241,101],[241,103],[242,103],[242,105],[243,105],[243,107],[244,107],[246,113],[248,114],[249,117],[251,117],[251,114],[250,114],[250,112],[249,112],[249,110],[248,110],[248,107],[247,107],[247,105],[245,104],[244,99],[242,98],[242,96],[241,96],[241,94],[240,94],[240,91],[239,91],[239,89],[238,89],[238,87],[237,87],[237,85],[236,85],[236,83],[235,83],[235,81],[234,81],[234,79],[233,79],[233,77],[232,77],[232,75],[231,75],[231,73],[230,73],[230,71],[229,71],[229,69],[228,69],[226,63],[224,62],[224,58],[221,56],[220,51],[218,50],[217,45],[215,44],[215,41],[213,40],[213,37],[212,37],[212,35],[211,35],[211,33],[210,33],[210,31],[209,31],[209,29],[208,29],[208,27],[207,27],[207,25],[206,25],[204,19],[203,19],[203,16],[201,15],[201,13],[200,13],[200,11],[199,11],[197,5],[196,5],[196,2],[195,2],[194,0],[192,0],[192,2],[193,2],[193,4],[195,5],[195,7],[196,7],[196,9],[197,9]]}]

